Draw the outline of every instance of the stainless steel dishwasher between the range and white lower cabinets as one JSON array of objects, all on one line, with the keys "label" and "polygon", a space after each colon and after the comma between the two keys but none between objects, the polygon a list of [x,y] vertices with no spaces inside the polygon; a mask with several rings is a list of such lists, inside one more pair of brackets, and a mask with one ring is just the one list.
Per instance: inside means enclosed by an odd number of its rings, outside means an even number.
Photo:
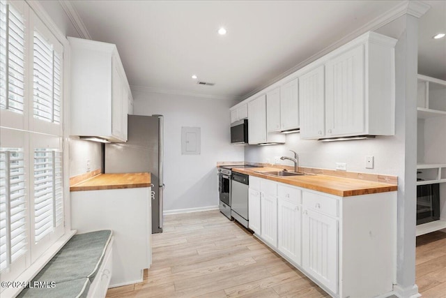
[{"label": "stainless steel dishwasher between the range and white lower cabinets", "polygon": [[231,180],[231,216],[245,228],[248,228],[249,176],[232,172]]}]

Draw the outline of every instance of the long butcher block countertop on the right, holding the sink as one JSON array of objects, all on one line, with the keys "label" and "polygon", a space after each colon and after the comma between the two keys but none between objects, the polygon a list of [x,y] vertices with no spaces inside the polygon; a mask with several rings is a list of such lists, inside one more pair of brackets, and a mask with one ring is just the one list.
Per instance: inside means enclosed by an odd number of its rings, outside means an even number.
[{"label": "long butcher block countertop on the right, holding the sink", "polygon": [[277,171],[273,167],[247,167],[233,168],[233,172],[240,172],[250,176],[260,177],[263,179],[291,184],[302,188],[312,189],[313,191],[321,191],[338,195],[339,197],[350,197],[352,195],[367,195],[370,193],[386,193],[389,191],[397,191],[398,186],[394,184],[384,184],[374,181],[364,181],[359,179],[348,179],[341,177],[333,177],[321,174],[305,174],[293,177],[275,177],[256,172]]}]

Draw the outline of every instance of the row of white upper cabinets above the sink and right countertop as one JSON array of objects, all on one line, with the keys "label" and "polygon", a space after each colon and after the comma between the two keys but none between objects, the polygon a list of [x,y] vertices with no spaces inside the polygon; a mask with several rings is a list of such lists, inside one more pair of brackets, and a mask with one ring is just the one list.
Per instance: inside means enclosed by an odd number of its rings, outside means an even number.
[{"label": "row of white upper cabinets above the sink and right countertop", "polygon": [[[268,133],[300,128],[302,140],[394,135],[396,43],[364,33],[261,91],[266,93]],[[259,143],[249,139],[249,144]]]}]

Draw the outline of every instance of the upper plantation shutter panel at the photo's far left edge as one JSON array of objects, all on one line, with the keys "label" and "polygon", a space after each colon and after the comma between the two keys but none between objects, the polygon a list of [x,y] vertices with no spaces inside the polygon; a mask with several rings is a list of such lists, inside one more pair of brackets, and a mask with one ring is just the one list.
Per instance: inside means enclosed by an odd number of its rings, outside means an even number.
[{"label": "upper plantation shutter panel at the photo's far left edge", "polygon": [[0,109],[23,114],[24,47],[23,16],[0,1]]}]

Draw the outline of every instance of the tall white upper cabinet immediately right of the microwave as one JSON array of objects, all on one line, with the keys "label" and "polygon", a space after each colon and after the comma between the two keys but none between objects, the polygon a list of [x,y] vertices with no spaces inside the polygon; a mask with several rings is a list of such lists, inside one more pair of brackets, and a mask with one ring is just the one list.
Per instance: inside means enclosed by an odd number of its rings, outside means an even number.
[{"label": "tall white upper cabinet immediately right of the microwave", "polygon": [[285,135],[267,133],[266,95],[263,94],[248,103],[249,144],[283,143]]}]

